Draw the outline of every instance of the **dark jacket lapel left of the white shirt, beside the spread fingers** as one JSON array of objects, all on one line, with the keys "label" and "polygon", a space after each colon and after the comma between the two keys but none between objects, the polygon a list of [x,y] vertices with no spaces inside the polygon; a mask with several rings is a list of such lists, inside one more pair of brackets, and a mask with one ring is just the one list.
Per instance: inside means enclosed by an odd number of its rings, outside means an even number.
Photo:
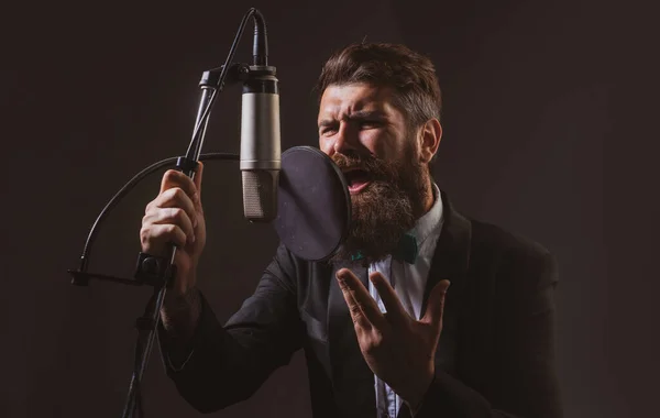
[{"label": "dark jacket lapel left of the white shirt, beside the spread fingers", "polygon": [[353,320],[337,283],[336,274],[348,267],[369,288],[367,268],[358,263],[339,262],[330,276],[328,301],[328,349],[334,398],[342,417],[375,417],[374,375],[362,356]]}]

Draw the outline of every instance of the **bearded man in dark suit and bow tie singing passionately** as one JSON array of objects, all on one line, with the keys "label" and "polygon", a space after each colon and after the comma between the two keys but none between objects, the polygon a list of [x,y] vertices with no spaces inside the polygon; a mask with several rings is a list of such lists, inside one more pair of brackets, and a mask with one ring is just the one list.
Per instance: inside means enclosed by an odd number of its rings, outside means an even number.
[{"label": "bearded man in dark suit and bow tie singing passionately", "polygon": [[560,417],[556,263],[463,217],[433,182],[432,63],[403,45],[353,44],[324,64],[318,91],[319,147],[344,173],[353,209],[331,260],[280,245],[221,326],[195,286],[201,167],[194,182],[167,172],[147,206],[142,251],[179,248],[158,330],[179,393],[200,411],[224,408],[304,349],[316,418]]}]

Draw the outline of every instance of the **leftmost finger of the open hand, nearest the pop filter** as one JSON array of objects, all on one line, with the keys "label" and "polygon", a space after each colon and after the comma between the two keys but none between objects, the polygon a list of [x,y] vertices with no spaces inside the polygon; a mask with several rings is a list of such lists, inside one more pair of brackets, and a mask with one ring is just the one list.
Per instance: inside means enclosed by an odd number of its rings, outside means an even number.
[{"label": "leftmost finger of the open hand, nearest the pop filter", "polygon": [[364,328],[375,327],[383,329],[383,326],[386,323],[385,317],[381,312],[381,309],[378,309],[374,298],[369,294],[369,290],[360,282],[360,278],[349,268],[341,268],[337,272],[337,279],[344,299],[349,304],[349,309],[351,309],[351,316],[355,311],[356,315],[363,318],[353,317],[353,321],[360,319],[360,323],[364,324]]}]

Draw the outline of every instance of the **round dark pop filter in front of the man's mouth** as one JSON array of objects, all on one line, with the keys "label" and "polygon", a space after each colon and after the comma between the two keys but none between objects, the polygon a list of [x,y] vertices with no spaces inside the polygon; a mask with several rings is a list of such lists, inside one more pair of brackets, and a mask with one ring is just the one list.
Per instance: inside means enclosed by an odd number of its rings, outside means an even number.
[{"label": "round dark pop filter in front of the man's mouth", "polygon": [[341,169],[318,148],[282,154],[275,230],[300,258],[331,257],[349,233],[351,195]]}]

